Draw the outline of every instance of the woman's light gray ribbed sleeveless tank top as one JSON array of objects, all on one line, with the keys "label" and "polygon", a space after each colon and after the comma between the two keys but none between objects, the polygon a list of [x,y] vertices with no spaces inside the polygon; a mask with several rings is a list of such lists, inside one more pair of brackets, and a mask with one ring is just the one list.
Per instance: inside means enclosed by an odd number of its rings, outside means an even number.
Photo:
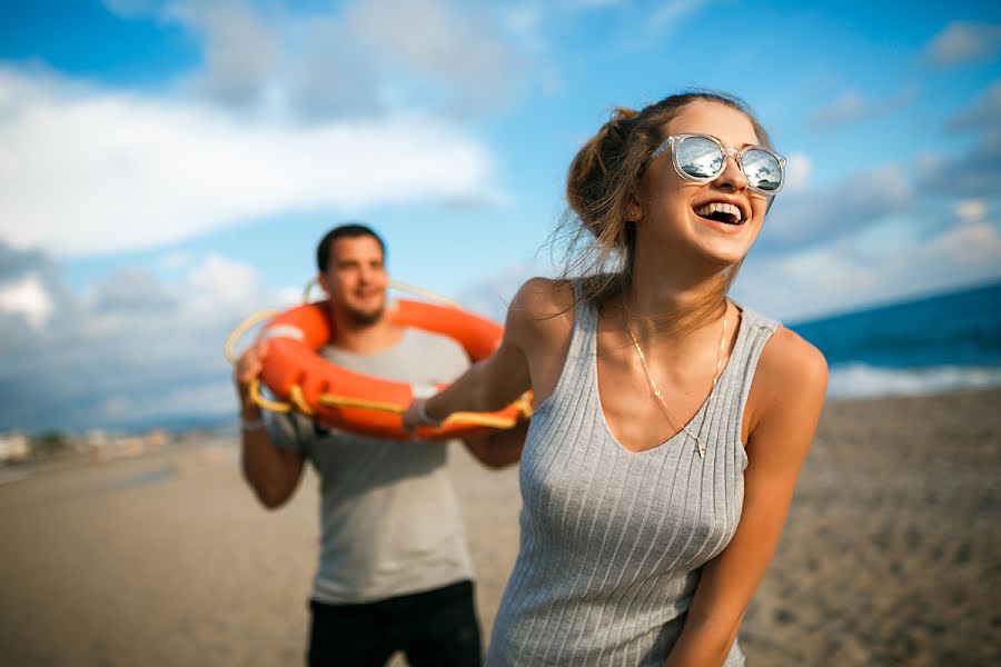
[{"label": "woman's light gray ribbed sleeveless tank top", "polygon": [[[684,431],[638,454],[615,440],[598,398],[596,326],[595,307],[579,302],[556,389],[532,417],[519,475],[521,547],[494,624],[490,667],[662,665],[702,565],[741,518],[741,421],[777,322],[742,310],[712,405],[686,425],[704,439],[705,458]],[[743,664],[735,643],[725,665]]]}]

